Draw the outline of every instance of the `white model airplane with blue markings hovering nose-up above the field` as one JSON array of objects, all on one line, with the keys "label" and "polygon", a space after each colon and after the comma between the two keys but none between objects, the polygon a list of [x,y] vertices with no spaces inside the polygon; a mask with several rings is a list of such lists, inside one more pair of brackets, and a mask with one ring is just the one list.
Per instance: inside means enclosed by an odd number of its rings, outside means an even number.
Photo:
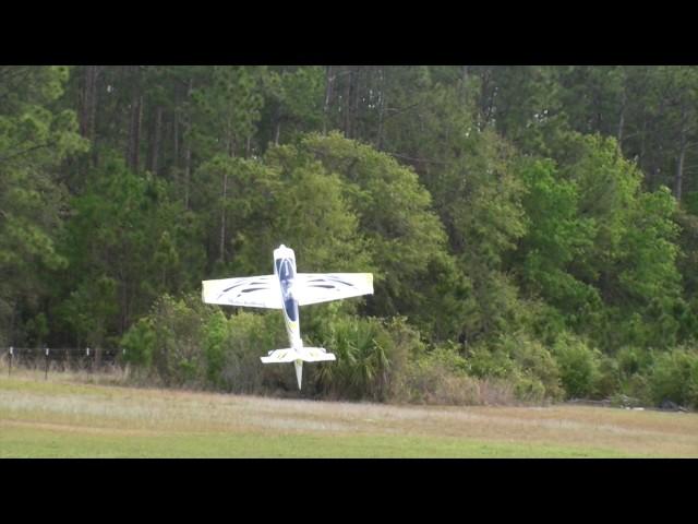
[{"label": "white model airplane with blue markings hovering nose-up above the field", "polygon": [[289,346],[261,357],[264,364],[293,362],[301,389],[303,362],[336,360],[322,347],[303,346],[298,307],[342,298],[373,295],[372,273],[297,273],[293,250],[281,245],[274,250],[274,274],[203,281],[206,303],[281,309]]}]

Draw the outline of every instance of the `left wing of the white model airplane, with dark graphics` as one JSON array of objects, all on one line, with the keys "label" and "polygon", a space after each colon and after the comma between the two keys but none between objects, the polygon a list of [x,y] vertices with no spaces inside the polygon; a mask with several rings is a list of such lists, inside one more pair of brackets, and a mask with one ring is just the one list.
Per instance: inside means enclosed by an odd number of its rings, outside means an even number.
[{"label": "left wing of the white model airplane, with dark graphics", "polygon": [[281,294],[274,275],[203,281],[202,299],[206,303],[281,309]]}]

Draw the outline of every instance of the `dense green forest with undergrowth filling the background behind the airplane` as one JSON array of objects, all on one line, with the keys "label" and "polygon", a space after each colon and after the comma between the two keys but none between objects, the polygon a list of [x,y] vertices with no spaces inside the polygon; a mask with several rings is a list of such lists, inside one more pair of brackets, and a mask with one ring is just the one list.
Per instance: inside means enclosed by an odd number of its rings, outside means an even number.
[{"label": "dense green forest with undergrowth filling the background behind the airplane", "polygon": [[698,405],[695,67],[0,67],[0,344],[292,391],[202,279],[366,271],[309,394]]}]

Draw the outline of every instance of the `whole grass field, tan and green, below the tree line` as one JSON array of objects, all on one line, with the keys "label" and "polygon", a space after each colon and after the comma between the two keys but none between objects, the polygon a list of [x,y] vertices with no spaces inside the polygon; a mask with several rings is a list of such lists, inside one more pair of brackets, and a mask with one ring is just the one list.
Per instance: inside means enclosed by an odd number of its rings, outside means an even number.
[{"label": "whole grass field, tan and green, below the tree line", "polygon": [[85,380],[0,378],[0,457],[698,457],[698,414],[329,403]]}]

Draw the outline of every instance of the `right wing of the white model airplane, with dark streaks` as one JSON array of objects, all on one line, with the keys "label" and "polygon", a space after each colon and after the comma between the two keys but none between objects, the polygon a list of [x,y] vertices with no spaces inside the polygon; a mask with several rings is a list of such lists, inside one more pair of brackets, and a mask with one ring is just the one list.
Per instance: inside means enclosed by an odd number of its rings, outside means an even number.
[{"label": "right wing of the white model airplane, with dark streaks", "polygon": [[298,273],[294,293],[299,306],[373,295],[373,274]]}]

